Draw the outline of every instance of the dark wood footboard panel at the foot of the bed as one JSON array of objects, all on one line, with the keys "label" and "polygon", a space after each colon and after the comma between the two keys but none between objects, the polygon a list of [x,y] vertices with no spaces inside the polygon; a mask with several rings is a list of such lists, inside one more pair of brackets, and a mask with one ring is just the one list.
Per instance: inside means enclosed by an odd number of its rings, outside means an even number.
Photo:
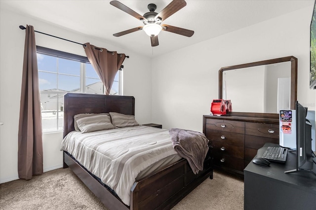
[{"label": "dark wood footboard panel at the foot of the bed", "polygon": [[163,169],[157,174],[134,183],[131,189],[133,210],[169,210],[195,189],[202,181],[213,178],[212,159],[204,161],[204,170],[193,173],[186,159]]}]

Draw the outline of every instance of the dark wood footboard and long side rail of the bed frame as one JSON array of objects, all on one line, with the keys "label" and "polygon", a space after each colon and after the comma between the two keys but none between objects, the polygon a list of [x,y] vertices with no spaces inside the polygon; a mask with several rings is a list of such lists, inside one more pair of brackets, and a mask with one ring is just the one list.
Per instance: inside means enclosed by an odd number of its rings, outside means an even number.
[{"label": "dark wood footboard and long side rail of the bed frame", "polygon": [[131,189],[131,203],[128,207],[111,190],[88,173],[73,157],[64,152],[64,167],[69,166],[110,210],[169,210],[203,180],[208,177],[213,178],[212,161],[212,156],[207,156],[203,171],[197,175],[192,172],[188,161],[181,159],[156,174],[137,180]]}]

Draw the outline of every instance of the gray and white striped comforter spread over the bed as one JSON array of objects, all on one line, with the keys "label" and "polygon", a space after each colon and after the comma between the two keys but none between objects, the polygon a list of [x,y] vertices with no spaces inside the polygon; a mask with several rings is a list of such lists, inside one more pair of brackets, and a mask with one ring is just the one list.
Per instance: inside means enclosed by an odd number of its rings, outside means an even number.
[{"label": "gray and white striped comforter spread over the bed", "polygon": [[112,188],[128,206],[136,179],[181,159],[172,147],[169,131],[148,126],[72,131],[63,139],[61,150]]}]

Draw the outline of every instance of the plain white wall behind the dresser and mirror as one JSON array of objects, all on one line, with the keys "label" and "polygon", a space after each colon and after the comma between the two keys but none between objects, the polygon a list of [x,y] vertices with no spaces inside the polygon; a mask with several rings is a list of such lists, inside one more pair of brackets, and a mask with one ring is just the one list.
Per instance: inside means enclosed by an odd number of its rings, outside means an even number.
[{"label": "plain white wall behind the dresser and mirror", "polygon": [[298,59],[299,102],[315,110],[316,90],[309,89],[312,12],[304,8],[155,58],[153,122],[201,132],[202,115],[218,97],[221,67],[287,56]]}]

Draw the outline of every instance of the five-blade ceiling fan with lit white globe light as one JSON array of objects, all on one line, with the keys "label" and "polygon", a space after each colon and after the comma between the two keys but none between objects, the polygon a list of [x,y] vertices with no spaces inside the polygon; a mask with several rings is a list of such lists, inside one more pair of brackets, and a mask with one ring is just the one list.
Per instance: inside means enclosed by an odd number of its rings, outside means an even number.
[{"label": "five-blade ceiling fan with lit white globe light", "polygon": [[156,4],[150,3],[148,4],[149,12],[146,12],[144,15],[138,14],[137,12],[135,12],[134,10],[130,9],[129,7],[125,6],[117,0],[111,1],[110,4],[137,18],[144,24],[144,26],[115,33],[113,34],[114,36],[118,37],[138,30],[144,30],[147,33],[147,35],[150,36],[152,47],[155,47],[159,45],[158,33],[161,30],[177,33],[188,37],[191,37],[194,34],[193,30],[187,30],[175,26],[161,24],[162,21],[164,21],[165,19],[167,19],[168,17],[170,17],[171,15],[185,7],[187,5],[185,0],[173,0],[159,13],[155,12],[157,8]]}]

